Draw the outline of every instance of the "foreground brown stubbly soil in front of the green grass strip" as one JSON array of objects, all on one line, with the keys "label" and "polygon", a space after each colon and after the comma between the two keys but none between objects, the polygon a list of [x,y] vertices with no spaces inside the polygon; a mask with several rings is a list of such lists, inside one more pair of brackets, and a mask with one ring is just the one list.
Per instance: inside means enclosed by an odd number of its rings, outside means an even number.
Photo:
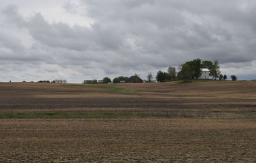
[{"label": "foreground brown stubbly soil in front of the green grass strip", "polygon": [[0,120],[1,162],[255,162],[256,120]]}]

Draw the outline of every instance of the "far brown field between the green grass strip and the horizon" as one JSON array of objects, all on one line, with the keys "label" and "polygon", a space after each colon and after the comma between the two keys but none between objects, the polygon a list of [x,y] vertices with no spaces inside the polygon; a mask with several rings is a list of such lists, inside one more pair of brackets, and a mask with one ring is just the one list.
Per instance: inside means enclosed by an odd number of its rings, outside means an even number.
[{"label": "far brown field between the green grass strip and the horizon", "polygon": [[65,84],[0,83],[0,111],[125,111],[164,118],[256,118],[256,82],[102,85],[137,93]]}]

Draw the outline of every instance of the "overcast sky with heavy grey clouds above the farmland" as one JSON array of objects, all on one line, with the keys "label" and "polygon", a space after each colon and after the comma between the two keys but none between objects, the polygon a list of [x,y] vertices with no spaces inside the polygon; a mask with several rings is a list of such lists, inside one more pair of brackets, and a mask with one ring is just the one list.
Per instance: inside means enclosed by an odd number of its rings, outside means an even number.
[{"label": "overcast sky with heavy grey clouds above the farmland", "polygon": [[256,79],[255,0],[1,0],[0,82],[81,83],[218,60]]}]

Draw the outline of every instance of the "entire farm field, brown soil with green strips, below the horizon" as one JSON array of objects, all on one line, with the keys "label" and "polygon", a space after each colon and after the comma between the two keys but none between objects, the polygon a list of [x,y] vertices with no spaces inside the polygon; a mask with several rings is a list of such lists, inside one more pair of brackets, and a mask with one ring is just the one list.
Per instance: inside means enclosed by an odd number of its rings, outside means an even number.
[{"label": "entire farm field, brown soil with green strips, below the horizon", "polygon": [[0,162],[255,162],[256,82],[0,83]]}]

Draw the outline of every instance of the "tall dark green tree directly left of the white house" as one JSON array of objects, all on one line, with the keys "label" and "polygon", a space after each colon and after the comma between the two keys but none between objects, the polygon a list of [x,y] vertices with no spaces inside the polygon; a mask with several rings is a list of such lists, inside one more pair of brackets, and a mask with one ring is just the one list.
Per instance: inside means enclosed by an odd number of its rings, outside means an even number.
[{"label": "tall dark green tree directly left of the white house", "polygon": [[201,59],[194,59],[193,61],[186,62],[187,65],[189,65],[191,72],[190,77],[192,79],[198,79],[200,75],[202,74],[201,70]]}]

